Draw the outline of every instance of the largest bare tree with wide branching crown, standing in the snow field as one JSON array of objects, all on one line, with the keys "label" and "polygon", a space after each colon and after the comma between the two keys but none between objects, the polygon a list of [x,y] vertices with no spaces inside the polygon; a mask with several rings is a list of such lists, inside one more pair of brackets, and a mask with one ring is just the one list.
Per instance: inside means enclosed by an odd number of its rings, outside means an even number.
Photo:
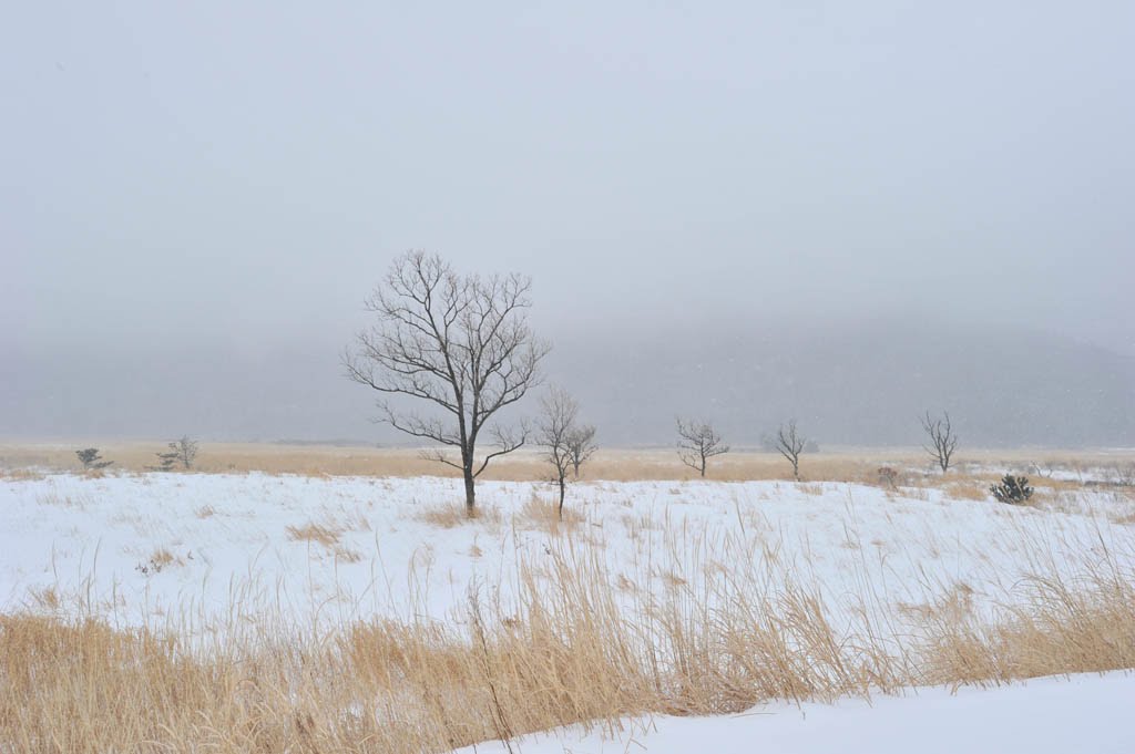
[{"label": "largest bare tree with wide branching crown, standing in the snow field", "polygon": [[[528,327],[531,280],[510,274],[459,276],[436,254],[409,252],[390,266],[365,300],[377,323],[360,332],[343,356],[351,380],[385,396],[406,396],[432,413],[422,415],[378,401],[379,420],[401,432],[453,448],[426,451],[430,460],[461,471],[465,508],[473,514],[474,481],[489,461],[516,450],[526,426],[487,426],[539,382],[549,347]],[[440,416],[438,415],[440,414]],[[477,460],[477,442],[489,432],[496,448]]]}]

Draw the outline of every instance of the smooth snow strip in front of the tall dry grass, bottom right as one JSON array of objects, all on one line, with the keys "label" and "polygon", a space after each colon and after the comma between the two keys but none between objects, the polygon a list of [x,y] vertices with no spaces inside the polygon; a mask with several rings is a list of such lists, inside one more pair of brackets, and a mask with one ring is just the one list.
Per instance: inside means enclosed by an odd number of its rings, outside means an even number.
[{"label": "smooth snow strip in front of the tall dry grass, bottom right", "polygon": [[[1130,754],[1135,675],[1037,678],[1000,688],[918,689],[871,704],[767,704],[737,715],[625,721],[614,736],[568,728],[512,745],[523,754]],[[460,754],[508,752],[499,743]]]}]

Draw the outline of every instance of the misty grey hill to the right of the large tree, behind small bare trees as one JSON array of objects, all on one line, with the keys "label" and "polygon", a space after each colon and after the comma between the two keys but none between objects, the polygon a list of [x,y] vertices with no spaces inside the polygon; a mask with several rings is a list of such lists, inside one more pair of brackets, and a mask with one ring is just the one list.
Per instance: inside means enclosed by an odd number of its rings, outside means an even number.
[{"label": "misty grey hill to the right of the large tree, behind small bare trees", "polygon": [[667,441],[681,414],[737,444],[792,417],[821,443],[911,444],[927,409],[972,444],[1135,443],[1135,361],[1040,333],[735,328],[571,341],[554,357],[608,443]]}]

